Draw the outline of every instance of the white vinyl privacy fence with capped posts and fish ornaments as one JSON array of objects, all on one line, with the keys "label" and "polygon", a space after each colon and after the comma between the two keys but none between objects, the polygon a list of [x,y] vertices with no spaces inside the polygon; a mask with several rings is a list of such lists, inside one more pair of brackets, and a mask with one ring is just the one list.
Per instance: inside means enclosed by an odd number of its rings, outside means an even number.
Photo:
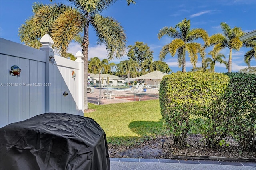
[{"label": "white vinyl privacy fence with capped posts and fish ornaments", "polygon": [[54,55],[48,34],[40,43],[38,50],[0,38],[0,127],[48,112],[84,115],[82,52],[72,61]]}]

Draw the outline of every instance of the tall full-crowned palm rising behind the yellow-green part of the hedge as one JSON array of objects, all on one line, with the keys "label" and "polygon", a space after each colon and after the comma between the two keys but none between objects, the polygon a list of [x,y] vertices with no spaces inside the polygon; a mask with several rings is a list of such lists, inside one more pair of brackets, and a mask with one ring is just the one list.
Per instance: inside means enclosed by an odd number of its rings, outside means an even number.
[{"label": "tall full-crowned palm rising behind the yellow-green part of the hedge", "polygon": [[[180,32],[177,30],[179,28]],[[196,67],[197,53],[202,54],[204,48],[200,43],[193,42],[198,38],[202,38],[206,44],[208,44],[208,34],[205,30],[196,28],[190,30],[190,20],[182,20],[178,23],[175,28],[164,27],[158,33],[158,39],[162,36],[167,35],[170,38],[174,38],[171,43],[164,45],[160,51],[159,58],[162,61],[168,53],[174,57],[177,52],[178,66],[182,65],[182,72],[186,72],[186,51],[188,51],[190,61],[193,67]]]}]

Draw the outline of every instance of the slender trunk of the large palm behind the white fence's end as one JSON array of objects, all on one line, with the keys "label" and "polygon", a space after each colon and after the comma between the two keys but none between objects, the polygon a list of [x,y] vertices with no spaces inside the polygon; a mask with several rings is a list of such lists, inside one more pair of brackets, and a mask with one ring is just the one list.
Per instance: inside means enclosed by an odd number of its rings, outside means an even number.
[{"label": "slender trunk of the large palm behind the white fence's end", "polygon": [[83,38],[83,49],[84,55],[84,110],[88,110],[88,96],[87,96],[87,79],[88,79],[88,46],[89,46],[89,22],[87,22],[84,28]]}]

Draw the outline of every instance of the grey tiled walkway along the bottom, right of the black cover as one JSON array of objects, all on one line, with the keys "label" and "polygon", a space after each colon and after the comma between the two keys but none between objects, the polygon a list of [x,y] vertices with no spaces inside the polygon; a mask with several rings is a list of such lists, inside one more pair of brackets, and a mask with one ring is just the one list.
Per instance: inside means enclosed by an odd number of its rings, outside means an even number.
[{"label": "grey tiled walkway along the bottom, right of the black cover", "polygon": [[110,158],[111,170],[256,170],[255,162]]}]

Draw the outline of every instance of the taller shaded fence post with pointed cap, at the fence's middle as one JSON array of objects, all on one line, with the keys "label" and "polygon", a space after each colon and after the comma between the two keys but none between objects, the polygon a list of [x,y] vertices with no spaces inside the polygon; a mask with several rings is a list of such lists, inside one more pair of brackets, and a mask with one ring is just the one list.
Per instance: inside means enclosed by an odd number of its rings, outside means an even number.
[{"label": "taller shaded fence post with pointed cap, at the fence's middle", "polygon": [[54,44],[52,38],[49,34],[45,34],[41,40],[42,47],[40,50],[46,51],[46,65],[45,65],[45,83],[46,83],[46,113],[54,111],[54,50],[52,49],[52,45]]}]

